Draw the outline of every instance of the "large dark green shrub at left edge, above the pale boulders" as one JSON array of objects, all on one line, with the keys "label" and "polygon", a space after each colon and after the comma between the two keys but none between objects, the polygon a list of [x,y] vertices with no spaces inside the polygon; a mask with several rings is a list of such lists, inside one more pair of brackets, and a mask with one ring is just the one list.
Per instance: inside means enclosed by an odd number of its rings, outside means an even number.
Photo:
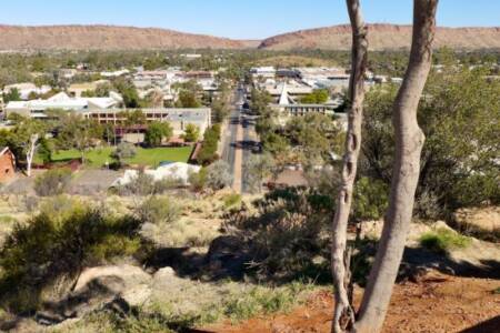
[{"label": "large dark green shrub at left edge, above the pale boulders", "polygon": [[41,213],[16,225],[0,249],[0,305],[34,311],[43,301],[42,290],[60,278],[72,279],[88,265],[133,254],[139,225],[129,216],[106,216],[78,205],[60,216]]}]

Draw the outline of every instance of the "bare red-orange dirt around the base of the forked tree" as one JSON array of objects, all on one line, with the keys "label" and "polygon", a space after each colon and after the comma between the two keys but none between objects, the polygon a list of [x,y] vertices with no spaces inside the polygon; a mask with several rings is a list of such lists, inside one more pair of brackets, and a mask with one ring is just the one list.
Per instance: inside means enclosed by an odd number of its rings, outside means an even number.
[{"label": "bare red-orange dirt around the base of the forked tree", "polygon": [[[383,332],[500,332],[499,280],[466,279],[438,273],[419,283],[394,287]],[[357,292],[357,302],[360,292]],[[257,317],[236,326],[230,323],[207,327],[218,333],[322,333],[330,332],[331,294],[318,293],[288,314]]]}]

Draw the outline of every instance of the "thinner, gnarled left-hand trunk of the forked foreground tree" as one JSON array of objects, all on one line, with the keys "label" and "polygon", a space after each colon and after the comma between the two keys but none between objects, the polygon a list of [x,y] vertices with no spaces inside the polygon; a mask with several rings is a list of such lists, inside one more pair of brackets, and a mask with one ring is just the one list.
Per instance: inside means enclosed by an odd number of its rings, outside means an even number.
[{"label": "thinner, gnarled left-hand trunk of the forked foreground tree", "polygon": [[349,82],[349,118],[346,135],[346,153],[342,167],[342,184],[339,191],[331,250],[336,307],[332,332],[344,332],[354,322],[354,311],[349,293],[350,255],[346,252],[347,226],[351,211],[352,191],[361,147],[361,123],[364,101],[364,73],[367,68],[367,27],[361,14],[359,0],[347,0],[352,27],[352,68]]}]

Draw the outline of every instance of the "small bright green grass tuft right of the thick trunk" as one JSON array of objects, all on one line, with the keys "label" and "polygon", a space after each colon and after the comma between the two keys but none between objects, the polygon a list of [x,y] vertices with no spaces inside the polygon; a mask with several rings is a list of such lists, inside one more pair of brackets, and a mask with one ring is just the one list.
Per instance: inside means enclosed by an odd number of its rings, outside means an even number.
[{"label": "small bright green grass tuft right of the thick trunk", "polygon": [[448,229],[438,229],[421,235],[420,244],[437,253],[448,253],[454,249],[469,246],[471,239]]}]

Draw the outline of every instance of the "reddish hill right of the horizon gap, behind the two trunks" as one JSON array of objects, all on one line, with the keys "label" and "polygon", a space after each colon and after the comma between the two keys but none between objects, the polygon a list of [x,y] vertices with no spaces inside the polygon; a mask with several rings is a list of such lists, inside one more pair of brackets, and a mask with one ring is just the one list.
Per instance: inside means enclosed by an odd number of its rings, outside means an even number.
[{"label": "reddish hill right of the horizon gap, behind the two trunks", "polygon": [[[409,49],[411,26],[369,24],[369,44],[371,50]],[[260,49],[297,50],[323,49],[348,50],[351,44],[350,26],[336,26],[268,38]],[[438,28],[436,48],[452,49],[500,49],[500,27],[497,28]]]}]

